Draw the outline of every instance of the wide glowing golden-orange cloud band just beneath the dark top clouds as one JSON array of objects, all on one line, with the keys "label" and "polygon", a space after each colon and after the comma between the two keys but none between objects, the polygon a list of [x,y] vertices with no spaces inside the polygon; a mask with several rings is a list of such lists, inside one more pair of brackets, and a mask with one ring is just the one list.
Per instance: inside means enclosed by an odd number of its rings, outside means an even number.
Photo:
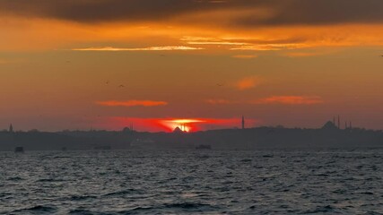
[{"label": "wide glowing golden-orange cloud band just beneath the dark top clouds", "polygon": [[[235,10],[234,10],[235,11]],[[232,11],[231,11],[232,13]],[[239,10],[239,16],[243,11]],[[215,14],[215,13],[214,13]],[[250,13],[254,14],[254,13]],[[195,14],[196,15],[196,14]],[[235,15],[233,17],[238,17]],[[216,13],[219,21],[228,18],[226,13]],[[197,16],[199,17],[199,16]],[[79,23],[57,19],[22,18],[0,15],[0,48],[10,51],[96,49],[99,51],[123,51],[122,47],[103,47],[131,44],[130,51],[186,50],[185,47],[205,48],[207,51],[230,52],[233,50],[292,51],[306,47],[366,47],[382,46],[381,24],[353,23],[319,26],[269,26],[259,30],[231,28],[216,25],[209,15],[201,22],[193,17],[178,17],[166,22],[103,22]],[[214,24],[209,24],[213,22]],[[98,23],[98,22],[97,22]],[[220,22],[221,23],[221,22]],[[281,34],[283,32],[283,34]],[[91,44],[91,45],[90,45]],[[138,47],[145,44],[147,47]],[[169,47],[162,46],[163,44]],[[200,44],[193,47],[191,44]],[[88,48],[82,48],[82,47]],[[206,46],[206,47],[205,47]],[[127,50],[125,50],[127,51]],[[293,54],[292,54],[293,55]],[[300,55],[300,54],[298,54]]]}]

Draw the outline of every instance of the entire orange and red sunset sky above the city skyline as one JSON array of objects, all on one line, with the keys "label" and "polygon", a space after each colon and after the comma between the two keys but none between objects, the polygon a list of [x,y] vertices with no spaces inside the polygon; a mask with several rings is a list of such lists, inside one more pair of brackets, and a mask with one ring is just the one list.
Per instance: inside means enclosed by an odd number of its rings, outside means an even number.
[{"label": "entire orange and red sunset sky above the city skyline", "polygon": [[383,1],[0,0],[0,77],[0,129],[383,129]]}]

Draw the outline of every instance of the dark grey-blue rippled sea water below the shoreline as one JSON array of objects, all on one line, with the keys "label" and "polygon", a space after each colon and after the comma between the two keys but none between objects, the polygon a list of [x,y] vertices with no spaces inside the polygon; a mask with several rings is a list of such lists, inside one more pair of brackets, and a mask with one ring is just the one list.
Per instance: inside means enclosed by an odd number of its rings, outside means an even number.
[{"label": "dark grey-blue rippled sea water below the shoreline", "polygon": [[383,214],[383,150],[0,153],[4,214]]}]

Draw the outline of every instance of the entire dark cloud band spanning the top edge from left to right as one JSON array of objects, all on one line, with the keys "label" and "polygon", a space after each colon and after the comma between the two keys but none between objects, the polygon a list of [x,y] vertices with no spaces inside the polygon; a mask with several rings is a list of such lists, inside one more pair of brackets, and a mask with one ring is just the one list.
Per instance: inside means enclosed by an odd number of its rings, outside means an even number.
[{"label": "entire dark cloud band spanning the top edge from left to right", "polygon": [[[240,26],[383,22],[383,0],[1,0],[0,13],[74,22],[157,21],[218,9],[264,8],[229,22]],[[222,17],[224,19],[224,17]],[[206,20],[209,22],[209,20]]]}]

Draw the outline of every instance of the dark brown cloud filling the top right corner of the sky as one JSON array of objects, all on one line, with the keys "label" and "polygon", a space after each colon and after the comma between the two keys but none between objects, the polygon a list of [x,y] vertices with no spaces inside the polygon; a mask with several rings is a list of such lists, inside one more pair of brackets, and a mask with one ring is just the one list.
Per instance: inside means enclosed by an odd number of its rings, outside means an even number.
[{"label": "dark brown cloud filling the top right corner of the sky", "polygon": [[[382,0],[285,0],[275,6],[267,20],[252,17],[237,20],[240,25],[337,24],[383,22]],[[276,5],[276,4],[275,4]]]}]

